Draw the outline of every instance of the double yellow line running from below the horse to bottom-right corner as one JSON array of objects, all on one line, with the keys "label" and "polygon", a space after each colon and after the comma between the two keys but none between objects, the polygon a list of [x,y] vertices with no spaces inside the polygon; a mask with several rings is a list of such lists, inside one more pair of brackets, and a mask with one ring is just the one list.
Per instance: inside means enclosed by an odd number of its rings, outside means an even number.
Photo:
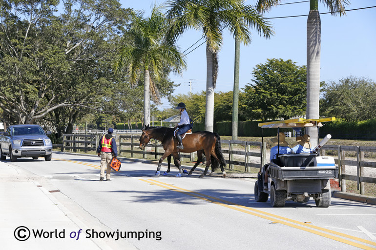
[{"label": "double yellow line running from below the horse to bottom-right corner", "polygon": [[[362,238],[358,238],[358,237],[355,237],[355,236],[351,236],[351,235],[348,235],[348,234],[345,234],[345,233],[341,233],[341,232],[337,232],[337,231],[333,231],[333,230],[329,230],[329,229],[325,229],[325,228],[320,228],[320,227],[317,227],[317,226],[314,226],[314,225],[310,225],[310,224],[307,224],[307,223],[304,223],[304,222],[285,218],[285,217],[275,215],[275,214],[272,214],[272,213],[269,213],[269,212],[264,212],[264,211],[261,211],[261,210],[245,207],[245,206],[242,206],[242,205],[239,205],[239,204],[236,204],[236,203],[232,203],[230,201],[226,201],[226,200],[223,200],[223,199],[219,199],[219,198],[216,198],[216,197],[213,197],[213,196],[209,196],[209,195],[206,195],[206,194],[203,194],[203,193],[194,192],[194,191],[190,191],[190,190],[187,190],[187,189],[179,188],[179,187],[176,187],[176,186],[171,185],[171,184],[167,184],[167,183],[164,183],[164,182],[161,182],[161,181],[157,181],[155,179],[140,179],[140,180],[145,181],[149,184],[159,186],[161,188],[169,189],[169,190],[175,191],[175,192],[181,192],[181,193],[196,197],[196,198],[201,199],[201,200],[209,201],[209,202],[212,202],[214,204],[217,204],[217,205],[220,205],[220,206],[223,206],[223,207],[226,207],[226,208],[230,208],[230,209],[233,209],[233,210],[236,210],[236,211],[239,211],[239,212],[244,212],[244,213],[248,213],[248,214],[260,217],[260,218],[264,218],[264,219],[270,220],[274,223],[280,223],[280,224],[283,224],[283,225],[286,225],[286,226],[289,226],[289,227],[292,227],[292,228],[311,232],[311,233],[314,233],[314,234],[317,234],[317,235],[320,235],[320,236],[323,236],[323,237],[326,237],[326,238],[329,238],[329,239],[333,239],[333,240],[336,240],[336,241],[339,241],[339,242],[342,242],[342,243],[345,243],[345,244],[348,244],[348,245],[351,245],[351,246],[354,246],[354,247],[357,247],[357,248],[360,248],[360,249],[365,249],[365,250],[375,250],[376,249],[374,247],[369,247],[369,246],[357,243],[357,242],[362,242],[362,243],[365,243],[365,244],[376,246],[376,243],[373,242],[373,241],[365,240],[365,239],[362,239]],[[341,236],[341,237],[344,237],[344,238],[340,238],[340,237],[337,237],[335,235]],[[355,240],[357,242],[350,241],[349,239]]]}]

